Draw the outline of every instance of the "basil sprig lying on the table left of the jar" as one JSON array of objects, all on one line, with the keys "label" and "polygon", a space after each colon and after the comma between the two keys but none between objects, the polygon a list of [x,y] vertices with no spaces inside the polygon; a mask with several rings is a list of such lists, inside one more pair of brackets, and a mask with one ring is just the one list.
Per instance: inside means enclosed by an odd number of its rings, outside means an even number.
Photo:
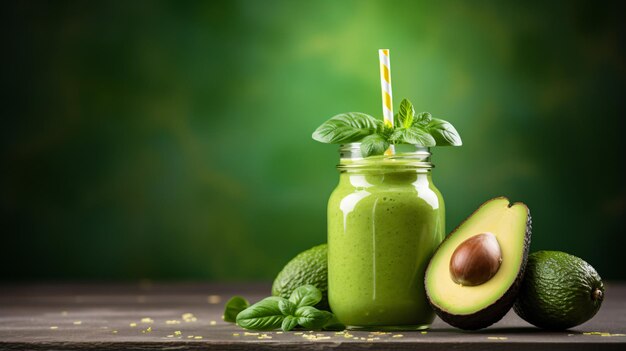
[{"label": "basil sprig lying on the table left of the jar", "polygon": [[[313,285],[303,285],[295,289],[289,299],[267,297],[252,306],[240,310],[232,320],[232,312],[241,308],[240,300],[232,298],[226,303],[224,320],[234,321],[240,327],[253,330],[272,330],[281,328],[292,330],[300,325],[306,329],[343,329],[344,326],[328,311],[313,307],[322,299],[322,293]],[[227,320],[227,316],[229,319]]]}]

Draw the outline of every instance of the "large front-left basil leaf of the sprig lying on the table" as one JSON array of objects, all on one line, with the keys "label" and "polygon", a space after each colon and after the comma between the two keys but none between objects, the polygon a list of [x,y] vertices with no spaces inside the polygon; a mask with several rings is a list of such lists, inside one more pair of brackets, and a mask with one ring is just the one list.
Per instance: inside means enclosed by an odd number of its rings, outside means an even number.
[{"label": "large front-left basil leaf of the sprig lying on the table", "polygon": [[245,329],[272,330],[279,328],[285,316],[278,307],[282,297],[265,298],[237,315],[237,324]]}]

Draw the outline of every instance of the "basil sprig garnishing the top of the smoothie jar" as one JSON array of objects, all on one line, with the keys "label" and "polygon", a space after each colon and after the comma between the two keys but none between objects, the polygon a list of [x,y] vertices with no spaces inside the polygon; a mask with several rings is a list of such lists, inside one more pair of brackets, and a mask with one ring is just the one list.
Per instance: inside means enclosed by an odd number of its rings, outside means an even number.
[{"label": "basil sprig garnishing the top of the smoothie jar", "polygon": [[329,144],[361,143],[364,157],[382,155],[391,144],[417,146],[460,146],[459,132],[452,124],[433,118],[428,112],[416,113],[413,104],[403,99],[394,126],[360,112],[332,117],[313,132],[313,139]]}]

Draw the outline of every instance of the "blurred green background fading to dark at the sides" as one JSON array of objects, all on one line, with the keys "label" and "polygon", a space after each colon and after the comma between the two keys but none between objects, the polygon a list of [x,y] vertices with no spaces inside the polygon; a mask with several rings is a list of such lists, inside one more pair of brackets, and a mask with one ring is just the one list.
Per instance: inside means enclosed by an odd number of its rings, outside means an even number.
[{"label": "blurred green background fading to dark at the sides", "polygon": [[448,230],[507,195],[532,250],[626,279],[623,11],[602,2],[3,4],[3,280],[269,280],[326,240],[334,114],[457,127]]}]

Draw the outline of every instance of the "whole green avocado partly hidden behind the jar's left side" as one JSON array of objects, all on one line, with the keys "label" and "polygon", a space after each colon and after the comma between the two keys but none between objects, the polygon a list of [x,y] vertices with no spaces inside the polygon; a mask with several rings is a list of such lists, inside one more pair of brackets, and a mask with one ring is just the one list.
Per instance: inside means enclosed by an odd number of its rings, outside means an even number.
[{"label": "whole green avocado partly hidden behind the jar's left side", "polygon": [[286,299],[296,288],[310,284],[322,292],[322,300],[315,305],[330,311],[328,305],[328,244],[314,246],[291,259],[278,273],[272,284],[272,295]]}]

